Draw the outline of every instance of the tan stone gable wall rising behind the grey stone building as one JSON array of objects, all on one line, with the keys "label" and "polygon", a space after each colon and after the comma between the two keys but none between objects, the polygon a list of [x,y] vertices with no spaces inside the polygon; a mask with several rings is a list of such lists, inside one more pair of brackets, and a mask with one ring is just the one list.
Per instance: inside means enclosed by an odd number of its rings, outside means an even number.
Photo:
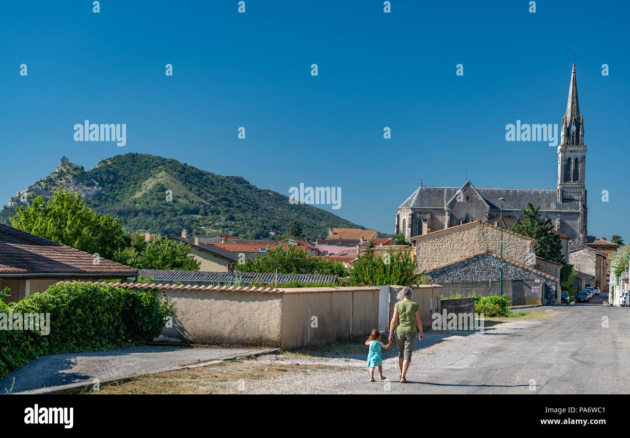
[{"label": "tan stone gable wall rising behind the grey stone building", "polygon": [[[527,264],[536,242],[503,230],[503,257]],[[417,272],[455,262],[483,250],[501,252],[501,229],[483,222],[471,222],[416,240]]]}]

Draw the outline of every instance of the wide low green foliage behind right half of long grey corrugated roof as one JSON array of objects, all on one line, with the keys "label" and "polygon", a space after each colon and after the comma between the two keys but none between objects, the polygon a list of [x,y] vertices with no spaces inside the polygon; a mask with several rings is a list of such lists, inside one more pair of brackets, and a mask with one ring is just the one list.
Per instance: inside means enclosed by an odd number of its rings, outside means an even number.
[{"label": "wide low green foliage behind right half of long grey corrugated roof", "polygon": [[286,251],[282,247],[267,247],[264,256],[250,258],[245,263],[236,265],[240,272],[266,272],[278,274],[319,274],[347,277],[348,270],[341,262],[331,262],[328,258],[307,255],[297,245],[289,245]]}]

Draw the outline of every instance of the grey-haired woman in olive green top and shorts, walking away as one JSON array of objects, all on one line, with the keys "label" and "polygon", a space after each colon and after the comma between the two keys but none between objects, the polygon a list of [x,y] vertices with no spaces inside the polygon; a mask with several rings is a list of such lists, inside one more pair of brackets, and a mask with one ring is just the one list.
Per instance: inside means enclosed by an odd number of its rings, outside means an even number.
[{"label": "grey-haired woman in olive green top and shorts, walking away", "polygon": [[[398,344],[398,366],[400,367],[400,383],[407,383],[405,376],[411,364],[411,353],[413,345],[416,343],[416,333],[420,330],[419,338],[422,340],[422,321],[420,321],[420,311],[418,303],[411,301],[413,291],[411,287],[403,287],[398,292],[398,303],[394,305],[394,316],[389,325],[389,342],[394,339],[396,333],[396,343]],[[416,329],[417,327],[417,329]]]}]

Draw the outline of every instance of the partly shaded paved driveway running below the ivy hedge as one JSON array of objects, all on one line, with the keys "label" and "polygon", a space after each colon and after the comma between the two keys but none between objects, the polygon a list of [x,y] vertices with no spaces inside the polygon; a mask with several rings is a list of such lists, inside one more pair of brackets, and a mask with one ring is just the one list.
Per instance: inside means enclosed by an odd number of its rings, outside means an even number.
[{"label": "partly shaded paved driveway running below the ivy hedge", "polygon": [[[53,354],[31,360],[0,379],[0,394],[78,382],[161,372],[182,366],[260,354],[270,349],[219,347],[134,347],[110,351]],[[15,378],[15,383],[13,383]]]}]

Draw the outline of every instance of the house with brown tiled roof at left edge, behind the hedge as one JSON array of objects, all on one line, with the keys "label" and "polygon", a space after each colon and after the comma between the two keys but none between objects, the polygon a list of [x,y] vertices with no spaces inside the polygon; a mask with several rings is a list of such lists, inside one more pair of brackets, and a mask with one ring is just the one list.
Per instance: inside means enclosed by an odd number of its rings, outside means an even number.
[{"label": "house with brown tiled roof at left edge, behind the hedge", "polygon": [[59,281],[123,279],[137,269],[0,224],[0,287],[14,303]]}]

